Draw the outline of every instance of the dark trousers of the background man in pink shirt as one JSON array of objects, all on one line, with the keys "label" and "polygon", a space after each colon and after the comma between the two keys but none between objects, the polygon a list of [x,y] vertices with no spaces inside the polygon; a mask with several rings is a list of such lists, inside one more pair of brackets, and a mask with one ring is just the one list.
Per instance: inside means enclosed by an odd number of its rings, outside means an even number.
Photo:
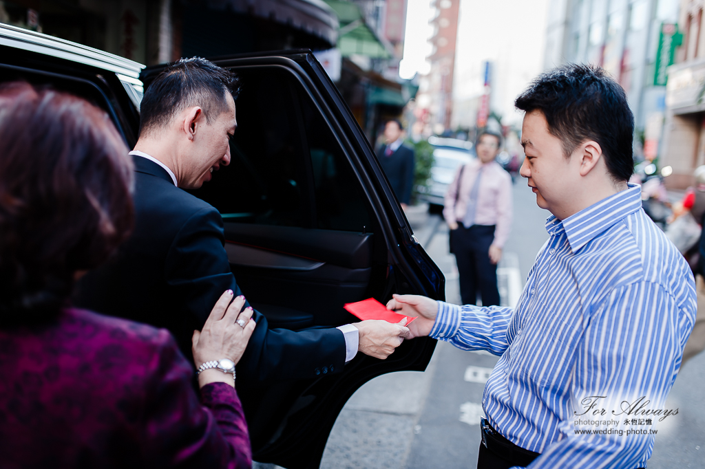
[{"label": "dark trousers of the background man in pink shirt", "polygon": [[477,292],[482,306],[499,306],[497,265],[489,261],[489,246],[494,241],[494,225],[458,225],[453,232],[453,254],[460,276],[462,304],[477,304]]}]

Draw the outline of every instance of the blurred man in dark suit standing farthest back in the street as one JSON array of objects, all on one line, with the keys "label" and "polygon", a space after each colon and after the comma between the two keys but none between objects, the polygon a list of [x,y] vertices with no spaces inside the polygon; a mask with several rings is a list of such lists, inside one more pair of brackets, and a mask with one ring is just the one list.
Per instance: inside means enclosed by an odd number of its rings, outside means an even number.
[{"label": "blurred man in dark suit standing farthest back in the street", "polygon": [[414,185],[414,150],[404,144],[404,127],[397,119],[388,120],[384,126],[384,142],[377,150],[379,164],[387,175],[402,208],[411,201]]}]

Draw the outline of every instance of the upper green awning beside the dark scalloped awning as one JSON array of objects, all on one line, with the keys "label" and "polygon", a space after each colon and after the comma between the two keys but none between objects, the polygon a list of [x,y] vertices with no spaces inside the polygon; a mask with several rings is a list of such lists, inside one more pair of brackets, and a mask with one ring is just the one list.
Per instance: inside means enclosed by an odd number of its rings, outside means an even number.
[{"label": "upper green awning beside the dark scalloped awning", "polygon": [[343,57],[359,54],[369,58],[391,58],[388,47],[364,22],[359,6],[343,0],[326,0],[326,4],[338,15],[338,49]]}]

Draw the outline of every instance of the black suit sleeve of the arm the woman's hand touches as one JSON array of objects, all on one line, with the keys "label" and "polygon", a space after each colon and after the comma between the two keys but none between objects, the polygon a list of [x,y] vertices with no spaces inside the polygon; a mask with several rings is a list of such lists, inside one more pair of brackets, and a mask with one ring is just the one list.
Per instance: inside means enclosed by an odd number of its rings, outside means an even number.
[{"label": "black suit sleeve of the arm the woman's hand touches", "polygon": [[[227,289],[247,298],[231,273],[224,242],[220,214],[215,208],[204,208],[183,225],[166,258],[164,275],[173,304],[197,328]],[[340,330],[269,329],[259,311],[252,317],[257,327],[238,363],[238,380],[308,378],[317,376],[317,368],[333,373],[343,369],[345,338]]]}]

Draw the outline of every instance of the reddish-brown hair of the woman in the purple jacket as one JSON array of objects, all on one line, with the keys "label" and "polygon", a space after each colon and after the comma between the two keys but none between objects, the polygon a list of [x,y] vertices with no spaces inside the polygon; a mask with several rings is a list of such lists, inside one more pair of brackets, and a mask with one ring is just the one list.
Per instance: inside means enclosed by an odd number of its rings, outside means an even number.
[{"label": "reddish-brown hair of the woman in the purple jacket", "polygon": [[132,185],[104,111],[27,83],[0,87],[0,325],[59,313],[75,273],[128,236]]}]

